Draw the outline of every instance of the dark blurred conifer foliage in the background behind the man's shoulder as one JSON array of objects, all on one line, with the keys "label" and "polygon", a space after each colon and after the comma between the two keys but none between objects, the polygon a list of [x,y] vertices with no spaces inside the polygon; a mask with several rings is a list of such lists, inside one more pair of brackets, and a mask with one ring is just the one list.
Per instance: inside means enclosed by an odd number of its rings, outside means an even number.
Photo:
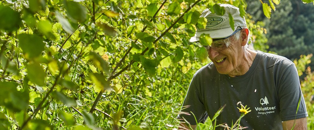
[{"label": "dark blurred conifer foliage in the background behind the man's shoulder", "polygon": [[[314,15],[313,4],[303,4],[302,1],[281,1],[276,5],[270,19],[262,12],[262,5],[255,0],[248,0],[250,5],[247,12],[252,15],[253,21],[263,21],[267,29],[267,51],[276,52],[290,60],[314,52]],[[266,1],[268,2],[268,1]],[[314,60],[312,57],[311,60]],[[314,68],[314,63],[310,64]]]}]

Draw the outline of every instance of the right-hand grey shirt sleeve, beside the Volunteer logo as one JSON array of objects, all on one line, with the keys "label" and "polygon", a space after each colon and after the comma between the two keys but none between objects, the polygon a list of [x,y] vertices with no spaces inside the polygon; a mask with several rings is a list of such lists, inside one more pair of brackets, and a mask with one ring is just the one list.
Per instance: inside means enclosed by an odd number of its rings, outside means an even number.
[{"label": "right-hand grey shirt sleeve, beside the Volunteer logo", "polygon": [[[279,114],[282,121],[308,116],[300,88],[298,72],[293,63],[284,70],[281,80],[279,81],[278,96],[280,105]],[[299,100],[300,106],[298,108]]]}]

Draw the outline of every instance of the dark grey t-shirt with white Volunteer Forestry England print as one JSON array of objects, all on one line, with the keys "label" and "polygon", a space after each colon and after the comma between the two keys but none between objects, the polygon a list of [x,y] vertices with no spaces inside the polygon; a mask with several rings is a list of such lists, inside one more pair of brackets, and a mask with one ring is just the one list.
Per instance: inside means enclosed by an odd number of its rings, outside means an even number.
[{"label": "dark grey t-shirt with white Volunteer Forestry England print", "polygon": [[[226,105],[216,124],[231,126],[241,115],[238,102],[252,110],[241,119],[241,126],[247,129],[280,130],[283,129],[282,121],[307,117],[295,64],[287,58],[261,51],[257,51],[248,72],[238,77],[219,74],[213,63],[199,69],[182,105],[182,108],[189,107],[181,112],[192,112],[198,123],[204,123],[208,116],[213,118],[217,110]],[[179,114],[178,118],[184,117],[195,125],[193,114]]]}]

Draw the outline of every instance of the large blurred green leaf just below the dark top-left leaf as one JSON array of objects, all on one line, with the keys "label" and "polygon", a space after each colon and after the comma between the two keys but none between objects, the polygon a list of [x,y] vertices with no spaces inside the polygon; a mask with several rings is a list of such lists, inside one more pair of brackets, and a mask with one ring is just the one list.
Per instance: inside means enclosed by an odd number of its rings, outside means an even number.
[{"label": "large blurred green leaf just below the dark top-left leaf", "polygon": [[26,58],[36,58],[45,49],[45,44],[41,37],[30,34],[18,35],[20,47]]}]

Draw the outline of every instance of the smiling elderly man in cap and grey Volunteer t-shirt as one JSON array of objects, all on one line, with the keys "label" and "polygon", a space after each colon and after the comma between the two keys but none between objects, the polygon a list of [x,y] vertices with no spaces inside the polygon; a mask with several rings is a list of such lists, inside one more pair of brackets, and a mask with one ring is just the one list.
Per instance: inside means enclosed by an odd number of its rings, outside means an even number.
[{"label": "smiling elderly man in cap and grey Volunteer t-shirt", "polygon": [[[251,108],[251,112],[241,118],[242,127],[290,130],[295,124],[295,130],[306,129],[306,106],[295,64],[278,55],[248,49],[249,30],[239,8],[219,5],[225,8],[225,14],[220,16],[204,10],[201,17],[207,19],[207,26],[198,29],[190,39],[190,42],[198,42],[203,33],[213,38],[213,43],[207,47],[212,62],[200,68],[192,78],[178,115],[180,128],[191,125],[195,129],[198,123],[213,118],[224,105],[216,124],[231,126],[241,116],[237,108],[237,103],[241,102]],[[235,30],[230,27],[229,14],[234,19]]]}]

